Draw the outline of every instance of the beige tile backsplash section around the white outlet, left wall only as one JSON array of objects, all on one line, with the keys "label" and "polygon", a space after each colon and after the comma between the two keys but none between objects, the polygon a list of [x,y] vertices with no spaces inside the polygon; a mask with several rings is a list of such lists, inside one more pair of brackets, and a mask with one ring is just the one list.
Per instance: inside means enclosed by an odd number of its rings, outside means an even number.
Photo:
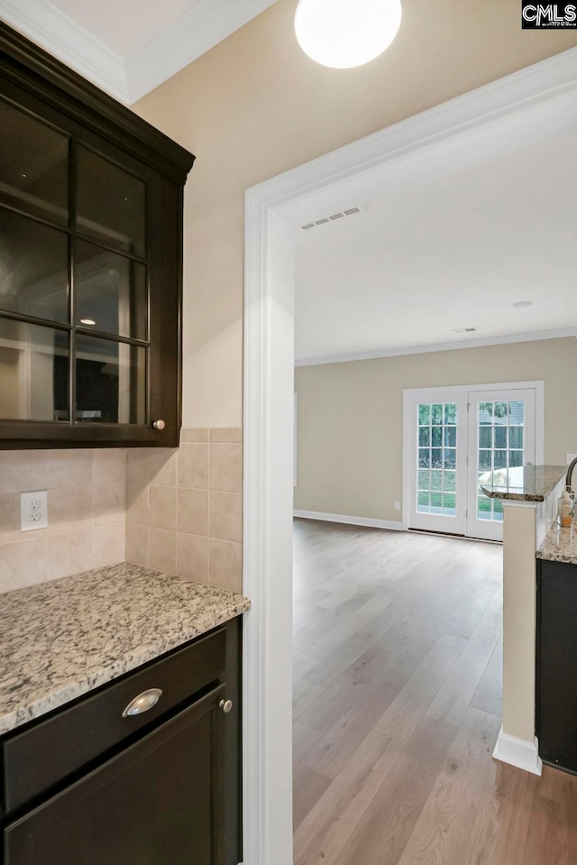
[{"label": "beige tile backsplash section around the white outlet, left wall only", "polygon": [[[48,491],[48,529],[20,530],[20,493]],[[126,451],[0,452],[0,592],[124,561]]]}]

